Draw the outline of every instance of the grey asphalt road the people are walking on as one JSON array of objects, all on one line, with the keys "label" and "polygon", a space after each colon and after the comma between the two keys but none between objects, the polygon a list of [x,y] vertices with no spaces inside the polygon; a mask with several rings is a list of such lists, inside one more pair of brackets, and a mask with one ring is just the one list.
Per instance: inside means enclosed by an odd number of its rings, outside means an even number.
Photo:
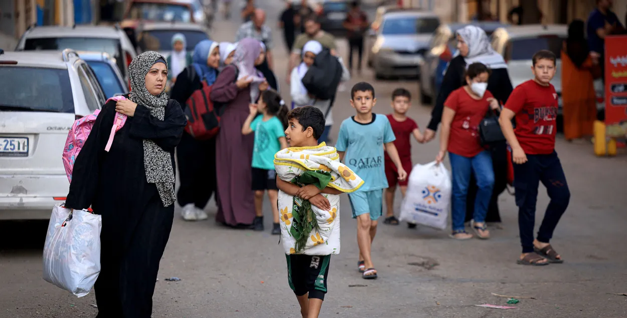
[{"label": "grey asphalt road the people are walking on", "polygon": [[[261,2],[261,1],[258,1]],[[277,20],[280,0],[266,0],[268,23]],[[234,9],[235,10],[235,9]],[[213,38],[231,40],[235,21],[216,22]],[[287,56],[282,36],[275,30],[277,75],[287,91]],[[345,53],[344,41],[339,41]],[[374,111],[387,113],[391,92],[400,86],[418,94],[415,80],[374,81],[370,71],[347,85],[370,81],[378,103]],[[288,99],[288,96],[284,96]],[[347,91],[334,107],[337,137],[340,121],[353,114]],[[430,108],[417,105],[409,115],[424,127]],[[431,162],[435,142],[413,144],[414,163]],[[379,279],[363,280],[357,273],[356,222],[350,218],[347,197],[342,198],[342,254],[332,257],[329,293],[320,317],[627,317],[627,155],[596,158],[589,143],[557,141],[571,203],[552,244],[564,264],[523,267],[517,209],[507,193],[500,198],[503,227],[493,228],[488,241],[458,242],[448,231],[409,230],[380,225],[374,240],[374,264]],[[397,211],[400,198],[397,197]],[[540,191],[538,223],[548,198]],[[278,237],[271,236],[270,205],[266,202],[266,231],[230,230],[216,225],[213,200],[210,218],[187,223],[176,216],[172,235],[161,260],[154,294],[154,315],[160,317],[300,317],[287,284],[287,270]],[[41,279],[41,248],[47,221],[0,223],[0,317],[95,317],[93,293],[75,296]],[[179,282],[166,282],[179,277]],[[499,310],[476,304],[505,305],[519,297],[517,309]],[[527,299],[522,297],[534,297]]]}]

